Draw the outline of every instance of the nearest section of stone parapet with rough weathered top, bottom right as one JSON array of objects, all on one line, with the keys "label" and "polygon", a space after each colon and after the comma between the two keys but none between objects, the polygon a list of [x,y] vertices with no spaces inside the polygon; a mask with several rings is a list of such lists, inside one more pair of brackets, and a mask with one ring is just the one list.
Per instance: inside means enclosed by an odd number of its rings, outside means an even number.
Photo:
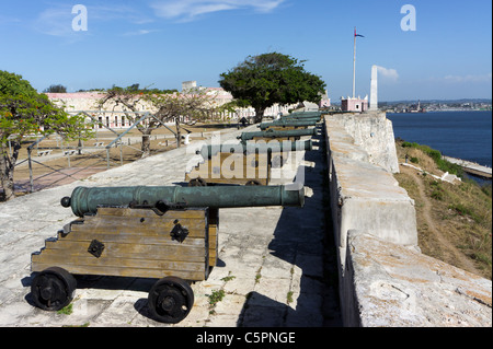
[{"label": "nearest section of stone parapet with rough weathered top, bottom right", "polygon": [[491,327],[492,282],[413,248],[349,231],[351,327]]}]

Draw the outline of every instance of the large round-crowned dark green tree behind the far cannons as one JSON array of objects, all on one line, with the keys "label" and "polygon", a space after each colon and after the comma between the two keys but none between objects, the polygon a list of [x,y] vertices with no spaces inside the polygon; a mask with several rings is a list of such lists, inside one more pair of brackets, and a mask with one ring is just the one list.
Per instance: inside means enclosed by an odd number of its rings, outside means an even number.
[{"label": "large round-crowned dark green tree behind the far cannons", "polygon": [[220,77],[221,88],[255,109],[255,123],[276,103],[318,103],[325,89],[320,77],[305,71],[303,61],[278,53],[249,56]]}]

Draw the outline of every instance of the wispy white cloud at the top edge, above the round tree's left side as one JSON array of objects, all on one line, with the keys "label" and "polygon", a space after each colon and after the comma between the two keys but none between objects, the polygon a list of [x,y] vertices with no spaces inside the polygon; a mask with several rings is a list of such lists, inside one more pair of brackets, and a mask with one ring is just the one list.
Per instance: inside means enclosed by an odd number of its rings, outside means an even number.
[{"label": "wispy white cloud at the top edge, above the round tree's left side", "polygon": [[276,9],[285,0],[161,0],[151,7],[158,16],[192,21],[206,13],[218,11],[253,9],[267,13]]}]

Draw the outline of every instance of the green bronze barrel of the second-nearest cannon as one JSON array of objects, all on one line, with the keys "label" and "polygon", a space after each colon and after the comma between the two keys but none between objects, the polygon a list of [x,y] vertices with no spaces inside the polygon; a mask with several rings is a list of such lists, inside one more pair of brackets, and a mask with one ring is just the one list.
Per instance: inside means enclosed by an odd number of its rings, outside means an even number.
[{"label": "green bronze barrel of the second-nearest cannon", "polygon": [[273,153],[273,152],[290,152],[290,151],[311,151],[313,149],[312,140],[306,141],[270,141],[270,142],[251,142],[238,144],[214,144],[204,146],[196,154],[200,154],[204,159],[210,159],[217,153]]}]

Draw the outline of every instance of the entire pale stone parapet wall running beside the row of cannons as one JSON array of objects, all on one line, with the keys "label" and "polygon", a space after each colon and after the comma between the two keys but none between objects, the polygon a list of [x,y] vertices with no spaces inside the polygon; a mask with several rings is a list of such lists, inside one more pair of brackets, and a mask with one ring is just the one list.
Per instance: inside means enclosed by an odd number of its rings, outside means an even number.
[{"label": "entire pale stone parapet wall running beside the row of cannons", "polygon": [[414,201],[392,175],[391,121],[346,116],[325,117],[344,325],[491,326],[491,281],[419,251]]}]

